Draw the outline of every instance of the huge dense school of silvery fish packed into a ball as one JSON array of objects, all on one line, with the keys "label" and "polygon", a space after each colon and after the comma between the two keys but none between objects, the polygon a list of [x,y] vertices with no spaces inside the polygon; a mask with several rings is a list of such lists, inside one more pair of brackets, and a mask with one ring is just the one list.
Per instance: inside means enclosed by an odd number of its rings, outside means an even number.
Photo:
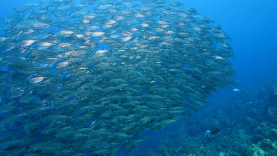
[{"label": "huge dense school of silvery fish packed into a ball", "polygon": [[42,0],[0,37],[3,155],[117,155],[235,85],[230,38],[167,0]]}]

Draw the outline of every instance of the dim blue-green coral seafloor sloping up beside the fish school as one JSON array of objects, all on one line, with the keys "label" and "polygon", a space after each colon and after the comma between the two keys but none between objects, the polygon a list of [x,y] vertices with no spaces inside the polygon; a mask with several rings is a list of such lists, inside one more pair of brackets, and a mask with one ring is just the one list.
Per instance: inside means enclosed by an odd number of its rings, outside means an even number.
[{"label": "dim blue-green coral seafloor sloping up beside the fish school", "polygon": [[[151,144],[145,143],[150,148],[147,154],[277,155],[277,83],[258,91],[242,90],[200,112],[159,132]],[[206,132],[214,127],[220,132]],[[142,148],[133,154],[141,155]]]}]

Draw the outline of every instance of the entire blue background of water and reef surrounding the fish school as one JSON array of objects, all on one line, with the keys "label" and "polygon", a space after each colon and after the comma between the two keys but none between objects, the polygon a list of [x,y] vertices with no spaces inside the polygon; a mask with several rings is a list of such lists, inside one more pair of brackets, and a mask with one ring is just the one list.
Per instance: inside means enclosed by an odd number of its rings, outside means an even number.
[{"label": "entire blue background of water and reef surrounding the fish school", "polygon": [[[119,155],[277,155],[277,1],[179,2],[212,18],[231,37],[239,85],[213,93],[192,116],[147,131],[147,140]],[[0,1],[0,19],[27,3],[38,1]]]}]

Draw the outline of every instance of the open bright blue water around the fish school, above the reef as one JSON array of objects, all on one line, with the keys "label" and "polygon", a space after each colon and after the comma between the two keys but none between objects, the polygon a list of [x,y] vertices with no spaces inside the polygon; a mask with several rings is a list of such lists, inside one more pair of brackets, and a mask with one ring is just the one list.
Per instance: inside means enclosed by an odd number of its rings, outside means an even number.
[{"label": "open bright blue water around the fish school, above the reef", "polygon": [[[35,0],[0,2],[0,19],[18,5]],[[275,0],[188,0],[185,7],[195,8],[213,18],[215,24],[232,38],[235,58],[232,60],[241,90],[261,89],[277,77],[277,1]],[[1,23],[0,26],[3,26]],[[275,78],[274,78],[275,77]],[[214,93],[212,102],[237,94],[232,88]],[[221,107],[221,105],[217,105]],[[154,134],[153,134],[154,135]],[[150,143],[149,143],[150,144]],[[142,152],[144,153],[144,152]],[[141,154],[143,155],[143,154]]]}]

